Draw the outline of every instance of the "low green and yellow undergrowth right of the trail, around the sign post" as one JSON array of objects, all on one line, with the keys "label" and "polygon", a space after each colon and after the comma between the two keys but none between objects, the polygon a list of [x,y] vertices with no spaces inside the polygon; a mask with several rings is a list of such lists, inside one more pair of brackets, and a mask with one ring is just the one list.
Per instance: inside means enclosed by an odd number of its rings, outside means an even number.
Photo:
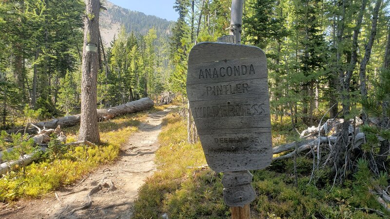
[{"label": "low green and yellow undergrowth right of the trail, around the sign post", "polygon": [[[186,143],[186,124],[177,114],[163,121],[164,128],[156,152],[157,171],[139,189],[134,217],[162,218],[164,213],[173,219],[225,219],[230,209],[223,201],[222,174],[210,168],[189,168],[206,164],[200,144]],[[282,127],[278,127],[282,129]],[[279,133],[280,144],[293,139],[285,129]],[[275,135],[274,135],[275,136]],[[283,140],[284,139],[284,140]],[[374,208],[385,212],[355,190],[356,181],[349,180],[332,187],[330,171],[315,172],[315,182],[308,185],[312,160],[297,159],[298,185],[294,184],[292,160],[273,162],[263,170],[252,171],[257,198],[251,203],[252,219],[379,219],[372,211],[355,208]]]}]

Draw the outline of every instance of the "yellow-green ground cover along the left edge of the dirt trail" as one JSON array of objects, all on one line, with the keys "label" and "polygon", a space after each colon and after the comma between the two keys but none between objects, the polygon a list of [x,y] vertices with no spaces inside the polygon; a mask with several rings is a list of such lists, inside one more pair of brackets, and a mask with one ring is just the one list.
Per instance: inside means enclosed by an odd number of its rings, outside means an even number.
[{"label": "yellow-green ground cover along the left edge of the dirt trail", "polygon": [[[156,109],[158,110],[158,109]],[[68,148],[62,159],[39,159],[26,167],[26,176],[10,172],[0,180],[0,201],[14,201],[22,197],[38,198],[60,186],[75,183],[101,164],[112,163],[119,148],[144,121],[147,112],[121,116],[99,123],[100,146]],[[77,140],[78,126],[65,128],[67,142]]]}]

